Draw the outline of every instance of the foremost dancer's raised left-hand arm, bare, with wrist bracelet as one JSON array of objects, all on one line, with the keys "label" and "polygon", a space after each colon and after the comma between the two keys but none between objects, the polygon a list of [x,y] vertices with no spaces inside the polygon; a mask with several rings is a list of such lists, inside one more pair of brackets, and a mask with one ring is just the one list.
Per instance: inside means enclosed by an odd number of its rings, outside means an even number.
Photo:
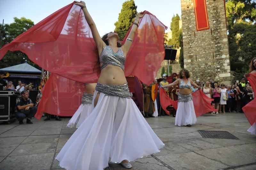
[{"label": "foremost dancer's raised left-hand arm, bare, with wrist bracelet", "polygon": [[88,12],[88,10],[86,8],[85,2],[84,1],[80,1],[80,2],[74,1],[73,3],[75,5],[80,6],[83,9],[85,20],[86,20],[86,22],[88,23],[89,27],[92,30],[92,37],[93,37],[94,42],[96,43],[96,46],[98,48],[98,52],[99,52],[99,55],[100,55],[100,53],[102,51],[102,48],[106,44],[102,41],[102,39],[100,37],[100,34],[99,34],[98,30],[97,30],[97,27],[96,27],[94,21],[92,20],[91,15],[89,14],[89,12]]}]

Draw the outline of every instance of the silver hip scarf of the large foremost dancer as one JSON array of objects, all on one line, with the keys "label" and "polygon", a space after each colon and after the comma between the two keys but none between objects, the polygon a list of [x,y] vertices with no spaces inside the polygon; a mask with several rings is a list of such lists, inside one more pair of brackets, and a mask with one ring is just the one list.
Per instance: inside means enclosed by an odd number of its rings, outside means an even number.
[{"label": "silver hip scarf of the large foremost dancer", "polygon": [[98,82],[95,89],[108,96],[132,98],[132,93],[129,91],[127,82],[120,85],[107,85]]}]

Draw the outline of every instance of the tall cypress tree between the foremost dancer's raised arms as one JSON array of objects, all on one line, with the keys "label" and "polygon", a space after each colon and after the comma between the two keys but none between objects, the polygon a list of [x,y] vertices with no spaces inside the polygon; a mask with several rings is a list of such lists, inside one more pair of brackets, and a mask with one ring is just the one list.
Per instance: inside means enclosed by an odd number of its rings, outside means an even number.
[{"label": "tall cypress tree between the foremost dancer's raised arms", "polygon": [[128,32],[131,27],[136,14],[137,14],[137,6],[133,0],[125,1],[122,5],[121,12],[119,13],[118,20],[115,23],[116,29],[115,31],[119,35],[119,40],[123,40],[124,36]]}]

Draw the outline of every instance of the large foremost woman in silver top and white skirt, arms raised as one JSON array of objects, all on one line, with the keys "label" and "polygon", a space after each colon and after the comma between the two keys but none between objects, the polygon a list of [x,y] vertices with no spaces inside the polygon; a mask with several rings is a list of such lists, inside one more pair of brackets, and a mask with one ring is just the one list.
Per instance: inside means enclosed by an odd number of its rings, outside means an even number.
[{"label": "large foremost woman in silver top and white skirt, arms raised", "polygon": [[118,34],[100,37],[83,1],[74,1],[83,9],[100,56],[101,73],[92,102],[94,109],[63,146],[56,159],[66,169],[102,170],[108,162],[131,168],[130,161],[159,152],[164,143],[156,136],[131,99],[124,76],[125,56],[137,31],[136,15],[124,45]]}]

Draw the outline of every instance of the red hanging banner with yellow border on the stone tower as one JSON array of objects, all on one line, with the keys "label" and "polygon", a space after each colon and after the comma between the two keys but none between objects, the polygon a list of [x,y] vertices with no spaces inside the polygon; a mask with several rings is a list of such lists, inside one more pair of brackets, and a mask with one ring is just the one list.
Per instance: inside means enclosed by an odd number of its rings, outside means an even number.
[{"label": "red hanging banner with yellow border on the stone tower", "polygon": [[197,31],[210,28],[208,13],[207,13],[207,6],[205,1],[206,0],[193,0]]}]

